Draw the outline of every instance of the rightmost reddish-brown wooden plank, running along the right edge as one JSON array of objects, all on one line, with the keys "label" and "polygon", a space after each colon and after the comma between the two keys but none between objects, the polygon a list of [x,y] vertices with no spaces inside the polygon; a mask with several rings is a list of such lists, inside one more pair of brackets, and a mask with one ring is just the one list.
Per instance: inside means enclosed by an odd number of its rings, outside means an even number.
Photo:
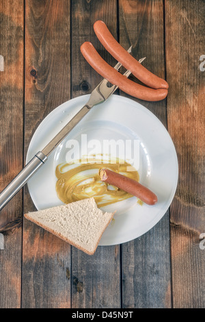
[{"label": "rightmost reddish-brown wooden plank, running along the right edge", "polygon": [[165,1],[168,128],[178,152],[171,217],[174,308],[204,308],[204,1]]}]

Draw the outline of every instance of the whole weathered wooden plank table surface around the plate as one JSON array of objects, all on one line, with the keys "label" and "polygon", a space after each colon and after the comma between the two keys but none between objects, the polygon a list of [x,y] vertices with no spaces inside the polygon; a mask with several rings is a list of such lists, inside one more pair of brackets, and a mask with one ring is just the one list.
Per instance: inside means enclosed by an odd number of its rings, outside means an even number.
[{"label": "whole weathered wooden plank table surface around the plate", "polygon": [[94,34],[98,19],[167,79],[167,99],[130,98],[167,127],[179,164],[163,219],[131,242],[98,247],[94,256],[23,219],[36,209],[25,186],[1,210],[0,307],[204,308],[205,1],[1,0],[0,17],[1,190],[23,168],[45,116],[102,79],[80,45],[92,41],[115,64]]}]

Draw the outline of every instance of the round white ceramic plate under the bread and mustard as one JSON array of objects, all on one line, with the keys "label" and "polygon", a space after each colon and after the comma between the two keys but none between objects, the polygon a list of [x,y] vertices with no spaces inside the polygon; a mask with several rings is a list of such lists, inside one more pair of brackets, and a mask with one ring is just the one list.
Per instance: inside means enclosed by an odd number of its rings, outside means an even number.
[{"label": "round white ceramic plate under the bread and mustard", "polygon": [[[27,162],[72,119],[90,95],[71,99],[51,112],[36,129],[27,152]],[[55,167],[66,162],[68,139],[81,141],[86,134],[90,140],[138,140],[139,182],[156,193],[158,203],[141,206],[132,197],[113,203],[103,210],[117,210],[114,221],[105,230],[99,245],[117,245],[133,240],[150,230],[170,206],[178,182],[176,150],[161,121],[141,104],[112,95],[105,103],[90,110],[72,129],[64,141],[51,153],[49,160],[28,182],[29,193],[38,210],[61,205],[55,192]]]}]

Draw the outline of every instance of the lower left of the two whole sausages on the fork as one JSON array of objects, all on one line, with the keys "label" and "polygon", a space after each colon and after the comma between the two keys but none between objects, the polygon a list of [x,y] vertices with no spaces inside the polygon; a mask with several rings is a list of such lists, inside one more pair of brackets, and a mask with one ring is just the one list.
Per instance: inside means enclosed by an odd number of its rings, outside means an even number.
[{"label": "lower left of the two whole sausages on the fork", "polygon": [[116,71],[102,59],[91,42],[84,42],[81,45],[81,53],[95,71],[127,94],[145,101],[161,101],[167,96],[167,88],[148,88],[131,81]]}]

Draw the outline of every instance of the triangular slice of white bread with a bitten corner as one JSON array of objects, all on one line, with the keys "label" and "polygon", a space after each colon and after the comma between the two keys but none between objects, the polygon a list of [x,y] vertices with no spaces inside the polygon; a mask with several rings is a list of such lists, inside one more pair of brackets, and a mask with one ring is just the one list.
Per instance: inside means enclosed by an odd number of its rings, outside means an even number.
[{"label": "triangular slice of white bread with a bitten corner", "polygon": [[93,255],[114,212],[102,212],[94,198],[25,214],[25,218]]}]

